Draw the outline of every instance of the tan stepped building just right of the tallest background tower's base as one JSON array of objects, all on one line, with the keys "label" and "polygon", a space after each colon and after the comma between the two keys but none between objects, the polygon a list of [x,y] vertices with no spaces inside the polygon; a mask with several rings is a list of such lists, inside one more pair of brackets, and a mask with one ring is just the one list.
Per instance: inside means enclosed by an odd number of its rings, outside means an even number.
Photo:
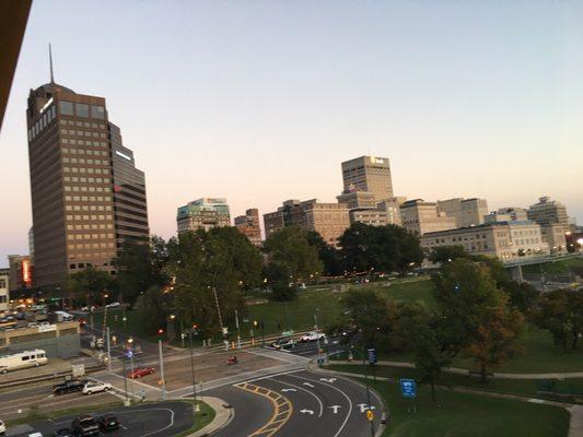
[{"label": "tan stepped building just right of the tallest background tower's base", "polygon": [[404,202],[400,205],[400,220],[401,226],[419,235],[456,227],[455,217],[440,213],[435,202],[425,202],[423,199]]}]

